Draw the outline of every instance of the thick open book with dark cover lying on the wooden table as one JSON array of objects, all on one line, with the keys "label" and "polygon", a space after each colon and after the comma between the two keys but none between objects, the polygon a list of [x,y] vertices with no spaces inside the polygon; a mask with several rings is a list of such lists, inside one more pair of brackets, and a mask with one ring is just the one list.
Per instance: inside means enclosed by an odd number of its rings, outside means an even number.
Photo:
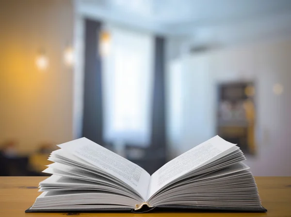
[{"label": "thick open book with dark cover lying on the wooden table", "polygon": [[[52,174],[26,212],[209,209],[266,212],[242,151],[219,136],[195,146],[154,174],[81,138],[58,145]],[[190,211],[190,210],[189,210]]]}]

